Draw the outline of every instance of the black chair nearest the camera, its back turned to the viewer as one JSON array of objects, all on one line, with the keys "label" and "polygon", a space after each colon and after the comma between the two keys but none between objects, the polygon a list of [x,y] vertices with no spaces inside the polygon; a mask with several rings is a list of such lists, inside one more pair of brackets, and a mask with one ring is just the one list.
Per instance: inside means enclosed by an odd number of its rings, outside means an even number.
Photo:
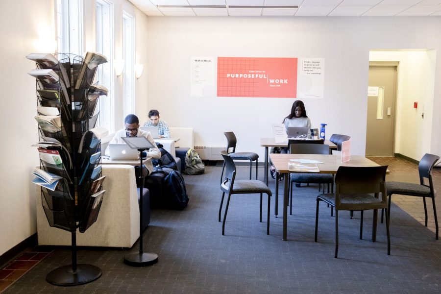
[{"label": "black chair nearest the camera, its back turned to the viewer", "polygon": [[[387,166],[380,167],[340,167],[335,176],[335,193],[317,196],[316,231],[314,241],[317,242],[319,227],[319,203],[324,201],[335,208],[335,258],[339,249],[339,211],[360,210],[360,239],[363,239],[363,211],[373,210],[372,242],[375,242],[377,227],[377,210],[385,209],[386,231],[388,237],[388,255],[391,254],[391,238],[389,233],[388,201],[386,196]],[[381,193],[381,198],[379,198]]]}]

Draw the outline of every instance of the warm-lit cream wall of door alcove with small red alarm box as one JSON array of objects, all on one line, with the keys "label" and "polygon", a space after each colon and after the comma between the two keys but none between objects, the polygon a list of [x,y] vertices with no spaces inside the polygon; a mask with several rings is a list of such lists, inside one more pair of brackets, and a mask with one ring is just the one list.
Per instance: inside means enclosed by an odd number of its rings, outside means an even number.
[{"label": "warm-lit cream wall of door alcove with small red alarm box", "polygon": [[394,152],[419,160],[431,152],[437,131],[432,130],[436,50],[371,51],[369,60],[399,62]]}]

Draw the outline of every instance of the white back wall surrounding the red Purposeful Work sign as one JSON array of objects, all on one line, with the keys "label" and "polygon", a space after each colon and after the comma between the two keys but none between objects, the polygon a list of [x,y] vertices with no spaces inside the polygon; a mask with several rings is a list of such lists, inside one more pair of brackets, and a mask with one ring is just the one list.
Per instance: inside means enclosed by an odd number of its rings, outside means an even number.
[{"label": "white back wall surrounding the red Purposeful Work sign", "polygon": [[[171,126],[194,127],[195,145],[225,146],[232,130],[238,150],[263,156],[259,138],[272,136],[294,99],[190,97],[190,57],[322,57],[324,98],[305,99],[307,114],[313,127],[328,124],[328,138],[350,135],[352,153],[365,154],[369,49],[441,49],[440,28],[441,17],[149,17],[148,108]],[[436,85],[435,112],[440,94]],[[439,136],[433,130],[433,142]],[[440,154],[439,144],[431,151]]]}]

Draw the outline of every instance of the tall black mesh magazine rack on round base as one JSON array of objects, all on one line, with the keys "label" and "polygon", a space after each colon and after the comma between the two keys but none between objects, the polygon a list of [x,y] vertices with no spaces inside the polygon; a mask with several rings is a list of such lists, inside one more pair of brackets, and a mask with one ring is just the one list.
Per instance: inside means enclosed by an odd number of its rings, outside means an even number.
[{"label": "tall black mesh magazine rack on round base", "polygon": [[[90,131],[98,118],[98,113],[94,115],[98,96],[91,98],[89,93],[98,65],[90,69],[83,57],[72,54],[53,56],[58,62],[51,66],[44,60],[32,59],[37,69],[50,69],[58,75],[54,83],[37,77],[37,106],[56,107],[60,113],[59,127],[37,120],[42,140],[36,146],[59,154],[60,159],[54,162],[40,155],[41,170],[61,176],[53,191],[41,188],[42,205],[51,227],[71,232],[72,265],[52,270],[46,280],[54,285],[73,286],[101,276],[99,268],[76,262],[76,230],[83,233],[97,220],[105,192],[100,177],[101,142]],[[40,111],[38,114],[44,116]]]}]

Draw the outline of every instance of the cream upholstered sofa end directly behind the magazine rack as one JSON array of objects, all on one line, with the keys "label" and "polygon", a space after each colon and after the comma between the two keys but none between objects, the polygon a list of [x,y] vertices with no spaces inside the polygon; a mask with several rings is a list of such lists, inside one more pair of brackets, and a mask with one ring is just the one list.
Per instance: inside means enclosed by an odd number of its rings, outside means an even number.
[{"label": "cream upholstered sofa end directly behind the magazine rack", "polygon": [[[97,221],[86,232],[76,232],[78,246],[131,247],[139,238],[139,205],[135,170],[129,165],[102,165],[106,190]],[[39,245],[72,245],[71,233],[50,227],[37,186]]]}]

